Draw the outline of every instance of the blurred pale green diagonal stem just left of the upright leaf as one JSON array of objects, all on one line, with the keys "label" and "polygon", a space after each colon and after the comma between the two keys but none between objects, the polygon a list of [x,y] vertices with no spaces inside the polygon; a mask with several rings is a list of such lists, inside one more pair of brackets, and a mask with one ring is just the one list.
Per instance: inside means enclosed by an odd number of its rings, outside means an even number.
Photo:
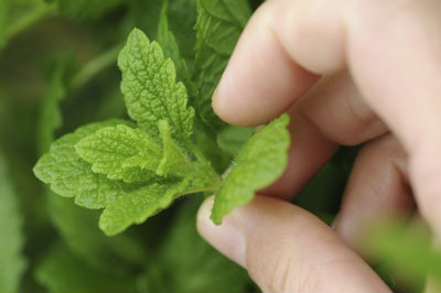
[{"label": "blurred pale green diagonal stem just left of the upright leaf", "polygon": [[117,44],[83,66],[83,68],[72,78],[69,84],[71,89],[75,90],[82,88],[88,80],[90,80],[103,69],[114,65],[117,61],[119,52],[121,51],[121,47],[122,44]]}]

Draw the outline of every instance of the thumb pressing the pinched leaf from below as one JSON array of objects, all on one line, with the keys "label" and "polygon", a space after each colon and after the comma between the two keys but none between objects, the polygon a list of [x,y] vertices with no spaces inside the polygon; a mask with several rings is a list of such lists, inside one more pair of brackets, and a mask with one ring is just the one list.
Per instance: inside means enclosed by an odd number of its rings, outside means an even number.
[{"label": "thumb pressing the pinched leaf from below", "polygon": [[257,196],[215,226],[212,205],[209,198],[198,211],[201,235],[263,292],[389,292],[331,228],[299,207]]}]

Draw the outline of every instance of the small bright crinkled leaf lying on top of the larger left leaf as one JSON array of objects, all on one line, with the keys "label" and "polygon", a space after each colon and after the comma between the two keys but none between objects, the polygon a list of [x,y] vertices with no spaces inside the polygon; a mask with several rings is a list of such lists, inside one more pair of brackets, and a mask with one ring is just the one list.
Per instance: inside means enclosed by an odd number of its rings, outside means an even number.
[{"label": "small bright crinkled leaf lying on top of the larger left leaf", "polygon": [[125,124],[101,128],[75,149],[95,173],[128,183],[151,180],[162,158],[161,148],[144,131]]}]

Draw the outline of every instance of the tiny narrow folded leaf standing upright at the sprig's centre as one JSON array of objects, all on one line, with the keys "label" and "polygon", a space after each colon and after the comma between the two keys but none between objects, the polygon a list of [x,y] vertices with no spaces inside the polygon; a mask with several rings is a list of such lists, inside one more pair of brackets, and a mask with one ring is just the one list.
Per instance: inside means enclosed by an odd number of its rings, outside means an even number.
[{"label": "tiny narrow folded leaf standing upright at the sprig's centre", "polygon": [[158,166],[157,174],[160,176],[168,174],[185,176],[193,173],[195,167],[191,163],[190,159],[187,159],[173,142],[166,120],[161,120],[159,122],[159,131],[162,138],[163,156]]}]

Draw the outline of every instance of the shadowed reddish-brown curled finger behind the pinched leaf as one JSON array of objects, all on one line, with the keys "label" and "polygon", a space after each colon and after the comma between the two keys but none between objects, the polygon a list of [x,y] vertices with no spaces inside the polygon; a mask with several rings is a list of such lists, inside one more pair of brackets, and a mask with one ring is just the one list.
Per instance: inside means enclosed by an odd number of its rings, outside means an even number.
[{"label": "shadowed reddish-brown curled finger behind the pinched leaf", "polygon": [[355,145],[387,131],[347,72],[323,77],[290,109],[292,142],[284,174],[263,194],[291,199],[340,144]]}]

